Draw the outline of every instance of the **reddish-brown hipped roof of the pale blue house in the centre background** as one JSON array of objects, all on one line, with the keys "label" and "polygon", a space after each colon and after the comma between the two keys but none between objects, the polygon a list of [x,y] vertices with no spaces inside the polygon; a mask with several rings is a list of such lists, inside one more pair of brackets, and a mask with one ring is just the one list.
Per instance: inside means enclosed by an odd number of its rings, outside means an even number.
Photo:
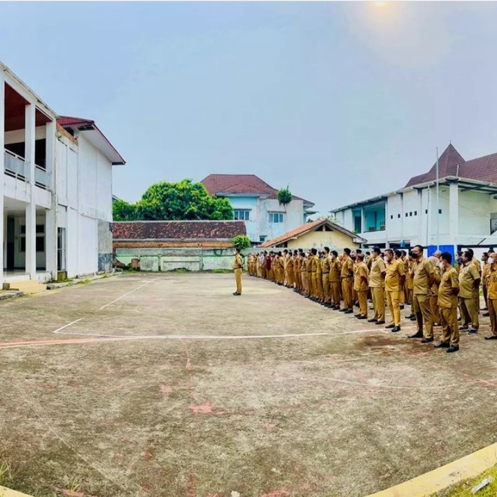
[{"label": "reddish-brown hipped roof of the pale blue house in the centre background", "polygon": [[[239,195],[267,195],[269,199],[277,199],[277,190],[262,181],[256,175],[208,175],[201,183],[207,188],[210,195],[232,193]],[[313,206],[313,202],[293,195],[294,200],[303,200],[307,206]]]}]

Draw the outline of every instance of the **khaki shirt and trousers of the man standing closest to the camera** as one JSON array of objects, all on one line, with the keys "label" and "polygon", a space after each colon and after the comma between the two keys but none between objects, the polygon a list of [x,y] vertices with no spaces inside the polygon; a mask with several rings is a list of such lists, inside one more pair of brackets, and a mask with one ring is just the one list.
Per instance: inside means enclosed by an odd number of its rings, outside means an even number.
[{"label": "khaki shirt and trousers of the man standing closest to the camera", "polygon": [[459,327],[457,322],[458,298],[454,289],[459,290],[457,271],[449,268],[444,271],[438,287],[438,307],[442,320],[442,342],[459,347]]}]

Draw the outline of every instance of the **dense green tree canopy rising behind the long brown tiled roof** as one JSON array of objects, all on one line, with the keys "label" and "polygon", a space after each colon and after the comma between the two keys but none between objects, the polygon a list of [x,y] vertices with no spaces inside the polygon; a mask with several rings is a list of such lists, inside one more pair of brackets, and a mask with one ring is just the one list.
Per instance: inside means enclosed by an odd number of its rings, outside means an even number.
[{"label": "dense green tree canopy rising behind the long brown tiled roof", "polygon": [[232,220],[228,199],[211,197],[202,183],[182,179],[177,183],[155,183],[136,204],[115,201],[115,221]]}]

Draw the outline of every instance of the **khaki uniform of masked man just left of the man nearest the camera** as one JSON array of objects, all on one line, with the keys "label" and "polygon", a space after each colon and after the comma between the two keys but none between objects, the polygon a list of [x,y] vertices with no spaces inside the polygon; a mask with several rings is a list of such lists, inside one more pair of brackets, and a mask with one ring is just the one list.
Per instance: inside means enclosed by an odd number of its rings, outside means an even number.
[{"label": "khaki uniform of masked man just left of the man nearest the camera", "polygon": [[433,316],[429,304],[430,278],[433,277],[433,266],[425,257],[414,262],[413,267],[413,309],[416,313],[418,331],[423,330],[423,320],[425,338],[433,338]]}]

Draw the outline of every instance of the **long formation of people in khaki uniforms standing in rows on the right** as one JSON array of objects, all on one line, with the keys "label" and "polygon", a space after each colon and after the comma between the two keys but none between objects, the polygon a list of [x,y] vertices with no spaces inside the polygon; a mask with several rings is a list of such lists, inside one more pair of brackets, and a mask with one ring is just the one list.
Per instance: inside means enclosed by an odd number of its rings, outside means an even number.
[{"label": "long formation of people in khaki uniforms standing in rows on the right", "polygon": [[[448,252],[425,257],[423,247],[416,245],[409,253],[378,247],[371,253],[345,248],[338,254],[328,247],[263,251],[249,254],[247,266],[251,276],[287,286],[329,309],[354,314],[358,320],[385,324],[394,333],[401,329],[401,309],[410,305],[407,319],[416,321],[417,331],[408,337],[430,343],[433,327],[441,326],[442,339],[434,347],[456,352],[460,331],[478,333],[480,284],[486,304],[483,311],[487,311],[483,315],[489,316],[491,324],[491,335],[485,340],[497,340],[497,253],[484,253],[482,262],[471,249],[456,253],[453,261]],[[240,266],[237,257],[235,264]]]}]

